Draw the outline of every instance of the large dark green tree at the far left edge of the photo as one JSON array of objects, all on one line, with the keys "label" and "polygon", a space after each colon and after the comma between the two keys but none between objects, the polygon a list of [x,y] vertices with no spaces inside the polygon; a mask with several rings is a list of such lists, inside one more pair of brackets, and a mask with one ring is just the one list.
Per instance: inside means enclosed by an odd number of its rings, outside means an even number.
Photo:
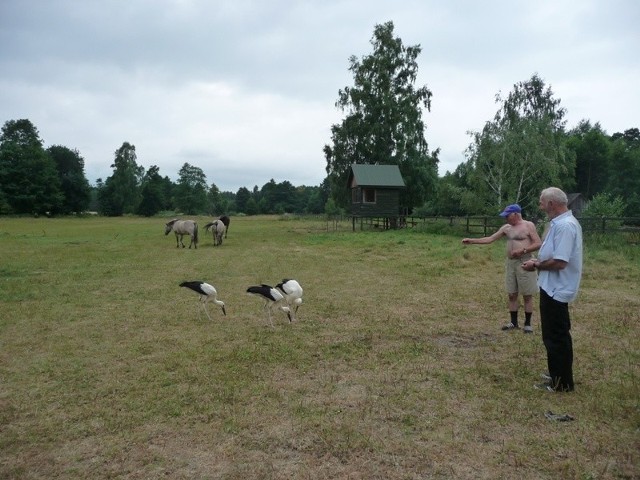
[{"label": "large dark green tree at the far left edge of the photo", "polygon": [[27,119],[9,120],[0,134],[0,204],[6,213],[60,210],[63,195],[55,162]]}]

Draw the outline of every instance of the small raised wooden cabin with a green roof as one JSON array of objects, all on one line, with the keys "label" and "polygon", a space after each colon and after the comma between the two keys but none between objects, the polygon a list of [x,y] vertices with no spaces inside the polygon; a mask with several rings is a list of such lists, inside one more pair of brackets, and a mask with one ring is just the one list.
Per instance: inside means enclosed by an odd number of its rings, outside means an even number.
[{"label": "small raised wooden cabin with a green roof", "polygon": [[384,227],[396,225],[401,216],[400,190],[406,188],[397,165],[351,165],[348,177],[351,215],[354,219],[385,219]]}]

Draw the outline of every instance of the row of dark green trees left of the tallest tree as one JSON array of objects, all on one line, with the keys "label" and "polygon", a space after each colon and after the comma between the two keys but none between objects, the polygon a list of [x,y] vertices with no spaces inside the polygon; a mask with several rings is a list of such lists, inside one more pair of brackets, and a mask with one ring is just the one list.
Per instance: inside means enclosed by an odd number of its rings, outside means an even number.
[{"label": "row of dark green trees left of the tallest tree", "polygon": [[188,163],[173,182],[156,165],[140,165],[135,145],[129,142],[114,152],[111,168],[109,177],[91,186],[77,150],[60,145],[45,149],[31,121],[9,120],[0,135],[0,214],[318,214],[328,199],[322,186],[294,187],[273,179],[262,188],[221,192],[215,183],[207,184],[201,168]]}]

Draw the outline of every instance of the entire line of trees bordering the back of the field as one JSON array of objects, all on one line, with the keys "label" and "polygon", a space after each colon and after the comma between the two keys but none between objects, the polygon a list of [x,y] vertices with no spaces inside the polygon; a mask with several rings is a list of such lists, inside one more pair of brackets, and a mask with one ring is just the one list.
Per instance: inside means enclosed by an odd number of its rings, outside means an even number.
[{"label": "entire line of trees bordering the back of the field", "polygon": [[401,205],[413,215],[495,214],[510,203],[531,215],[539,192],[557,186],[581,193],[593,214],[640,216],[638,128],[608,135],[582,120],[567,129],[561,100],[537,73],[496,95],[493,118],[468,132],[465,161],[439,177],[440,151],[430,151],[422,118],[433,94],[416,85],[421,46],[405,46],[393,22],[376,25],[371,45],[372,53],[349,59],[353,85],[338,91],[344,117],[323,148],[327,176],[319,186],[272,179],[221,192],[188,163],[173,182],[157,166],[139,165],[128,142],[114,152],[112,175],[90,186],[77,150],[45,149],[29,120],[9,120],[0,136],[0,214],[341,213],[351,201],[350,167],[364,163],[398,165]]}]

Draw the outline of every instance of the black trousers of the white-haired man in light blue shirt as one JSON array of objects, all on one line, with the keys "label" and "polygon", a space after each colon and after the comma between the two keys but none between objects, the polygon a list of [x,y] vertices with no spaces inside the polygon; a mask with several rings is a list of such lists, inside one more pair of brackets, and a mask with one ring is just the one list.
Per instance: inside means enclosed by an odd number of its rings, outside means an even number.
[{"label": "black trousers of the white-haired man in light blue shirt", "polygon": [[540,325],[547,349],[551,386],[560,391],[573,390],[573,342],[569,304],[554,300],[540,289]]}]

